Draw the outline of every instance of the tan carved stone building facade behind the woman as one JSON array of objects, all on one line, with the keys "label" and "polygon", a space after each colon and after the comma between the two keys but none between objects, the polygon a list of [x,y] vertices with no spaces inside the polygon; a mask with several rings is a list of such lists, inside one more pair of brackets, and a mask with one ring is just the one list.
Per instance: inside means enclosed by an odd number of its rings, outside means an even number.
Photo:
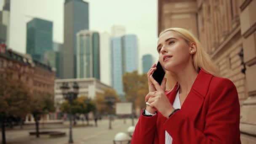
[{"label": "tan carved stone building facade behind the woman", "polygon": [[221,76],[235,83],[243,144],[256,143],[255,14],[256,0],[158,0],[158,34],[169,27],[190,30]]}]

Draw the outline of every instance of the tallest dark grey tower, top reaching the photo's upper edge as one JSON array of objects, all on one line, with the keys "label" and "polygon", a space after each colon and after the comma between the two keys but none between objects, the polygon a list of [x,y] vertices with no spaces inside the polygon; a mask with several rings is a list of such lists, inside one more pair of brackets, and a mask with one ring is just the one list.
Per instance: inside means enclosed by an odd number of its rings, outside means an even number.
[{"label": "tallest dark grey tower, top reaching the photo's upper edge", "polygon": [[65,0],[63,78],[75,78],[77,70],[77,37],[80,30],[89,29],[89,4],[83,0]]}]

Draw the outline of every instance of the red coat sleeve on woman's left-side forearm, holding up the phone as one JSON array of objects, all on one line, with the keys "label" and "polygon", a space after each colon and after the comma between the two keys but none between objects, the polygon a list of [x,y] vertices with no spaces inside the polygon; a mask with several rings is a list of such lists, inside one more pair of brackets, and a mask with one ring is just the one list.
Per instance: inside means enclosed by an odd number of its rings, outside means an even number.
[{"label": "red coat sleeve on woman's left-side forearm, holding up the phone", "polygon": [[156,122],[158,113],[154,116],[144,116],[139,117],[139,121],[133,132],[133,137],[131,139],[131,144],[153,144],[156,130]]}]

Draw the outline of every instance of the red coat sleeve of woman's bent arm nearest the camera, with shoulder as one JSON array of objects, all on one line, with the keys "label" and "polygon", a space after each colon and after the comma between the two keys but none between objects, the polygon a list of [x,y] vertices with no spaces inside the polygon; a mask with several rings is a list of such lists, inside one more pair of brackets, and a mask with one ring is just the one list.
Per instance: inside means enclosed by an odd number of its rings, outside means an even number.
[{"label": "red coat sleeve of woman's bent arm nearest the camera, with shoulder", "polygon": [[[212,80],[214,81],[214,80]],[[235,85],[228,79],[215,80],[208,91],[205,129],[199,131],[182,109],[165,121],[173,144],[240,144],[240,105]],[[171,127],[170,127],[171,125]]]}]

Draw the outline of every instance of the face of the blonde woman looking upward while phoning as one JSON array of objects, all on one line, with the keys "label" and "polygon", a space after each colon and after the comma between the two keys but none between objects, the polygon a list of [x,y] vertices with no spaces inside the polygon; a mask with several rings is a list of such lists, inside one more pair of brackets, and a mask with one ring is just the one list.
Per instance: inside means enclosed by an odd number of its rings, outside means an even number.
[{"label": "face of the blonde woman looking upward while phoning", "polygon": [[173,31],[163,33],[157,42],[160,64],[164,69],[172,72],[182,70],[188,64],[193,64],[192,54],[195,53],[195,50]]}]

